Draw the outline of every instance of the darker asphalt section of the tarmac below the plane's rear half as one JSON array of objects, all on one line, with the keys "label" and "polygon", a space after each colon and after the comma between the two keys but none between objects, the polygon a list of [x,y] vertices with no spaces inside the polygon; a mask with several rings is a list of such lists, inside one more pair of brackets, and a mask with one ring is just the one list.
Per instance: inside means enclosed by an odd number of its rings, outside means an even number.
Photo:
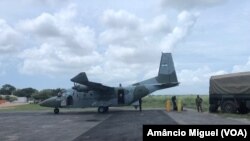
[{"label": "darker asphalt section of the tarmac below the plane's rear half", "polygon": [[140,141],[143,124],[177,124],[162,110],[120,111],[74,141]]}]

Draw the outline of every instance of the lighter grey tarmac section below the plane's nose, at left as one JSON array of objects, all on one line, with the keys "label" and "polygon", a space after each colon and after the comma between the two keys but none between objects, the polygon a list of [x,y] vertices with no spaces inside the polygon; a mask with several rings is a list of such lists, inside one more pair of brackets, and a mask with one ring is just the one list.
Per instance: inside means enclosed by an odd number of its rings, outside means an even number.
[{"label": "lighter grey tarmac section below the plane's nose, at left", "polygon": [[0,141],[71,141],[110,116],[96,111],[0,113]]}]

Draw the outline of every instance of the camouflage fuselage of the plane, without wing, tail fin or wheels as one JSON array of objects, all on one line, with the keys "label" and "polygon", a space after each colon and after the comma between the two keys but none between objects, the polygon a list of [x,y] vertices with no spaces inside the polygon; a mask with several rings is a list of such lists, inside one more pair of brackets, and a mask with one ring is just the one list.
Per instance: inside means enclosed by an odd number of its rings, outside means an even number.
[{"label": "camouflage fuselage of the plane, without wing, tail fin or wheels", "polygon": [[112,91],[77,91],[68,89],[51,97],[42,103],[41,106],[53,108],[86,108],[86,107],[116,107],[126,106],[138,101],[146,95],[161,89],[153,85],[139,85],[128,87],[114,87]]}]

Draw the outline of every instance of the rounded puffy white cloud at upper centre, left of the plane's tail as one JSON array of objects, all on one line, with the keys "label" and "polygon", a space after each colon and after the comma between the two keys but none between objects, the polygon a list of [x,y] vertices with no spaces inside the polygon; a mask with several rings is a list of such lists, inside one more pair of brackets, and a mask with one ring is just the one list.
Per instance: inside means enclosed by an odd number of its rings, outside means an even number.
[{"label": "rounded puffy white cloud at upper centre, left of the plane's tail", "polygon": [[141,37],[139,26],[142,20],[124,10],[106,10],[102,16],[106,26],[99,37],[103,44],[131,46]]}]

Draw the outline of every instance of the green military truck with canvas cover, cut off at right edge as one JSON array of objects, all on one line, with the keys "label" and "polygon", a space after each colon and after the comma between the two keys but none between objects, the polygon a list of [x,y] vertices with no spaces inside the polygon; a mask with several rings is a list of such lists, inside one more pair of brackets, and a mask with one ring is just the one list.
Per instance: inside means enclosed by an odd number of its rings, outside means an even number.
[{"label": "green military truck with canvas cover, cut off at right edge", "polygon": [[248,113],[250,110],[250,72],[211,76],[209,111]]}]

